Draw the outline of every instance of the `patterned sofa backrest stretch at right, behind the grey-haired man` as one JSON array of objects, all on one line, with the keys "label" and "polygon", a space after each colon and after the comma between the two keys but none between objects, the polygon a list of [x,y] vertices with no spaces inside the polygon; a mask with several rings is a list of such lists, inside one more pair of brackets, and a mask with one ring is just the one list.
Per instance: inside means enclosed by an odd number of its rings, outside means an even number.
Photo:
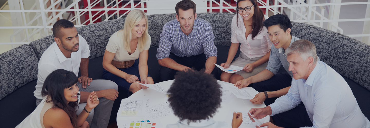
[{"label": "patterned sofa backrest stretch at right, behind the grey-haired man", "polygon": [[370,90],[370,46],[346,35],[292,22],[292,35],[311,41],[320,60]]}]

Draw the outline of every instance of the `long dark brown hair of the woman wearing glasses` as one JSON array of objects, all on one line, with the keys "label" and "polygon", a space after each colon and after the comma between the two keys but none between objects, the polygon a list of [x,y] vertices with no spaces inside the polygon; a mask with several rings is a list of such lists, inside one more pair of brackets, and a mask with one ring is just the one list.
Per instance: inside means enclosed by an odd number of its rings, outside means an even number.
[{"label": "long dark brown hair of the woman wearing glasses", "polygon": [[[245,1],[245,0],[238,0],[236,2],[236,8],[238,10],[239,8],[239,2],[240,1]],[[252,32],[250,32],[252,34],[252,39],[254,40],[254,37],[256,37],[256,35],[262,30],[263,28],[263,24],[262,22],[265,20],[265,17],[263,16],[263,11],[261,8],[258,7],[258,3],[257,3],[257,0],[249,0],[250,2],[252,2],[252,4],[254,4],[254,14],[253,14],[253,23],[252,23]],[[237,16],[236,16],[236,26],[238,26],[238,14],[239,14],[239,11],[236,11],[237,12]],[[238,26],[239,27],[239,26]]]}]

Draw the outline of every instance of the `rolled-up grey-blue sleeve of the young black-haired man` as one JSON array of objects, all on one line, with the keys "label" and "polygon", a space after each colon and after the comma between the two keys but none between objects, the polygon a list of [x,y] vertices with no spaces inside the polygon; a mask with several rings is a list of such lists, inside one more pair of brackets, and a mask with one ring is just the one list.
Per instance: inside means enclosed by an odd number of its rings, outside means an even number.
[{"label": "rolled-up grey-blue sleeve of the young black-haired man", "polygon": [[270,53],[269,62],[267,63],[266,69],[271,71],[272,73],[276,74],[279,70],[280,66],[282,65],[280,62],[279,57],[277,56],[278,49],[272,48]]}]

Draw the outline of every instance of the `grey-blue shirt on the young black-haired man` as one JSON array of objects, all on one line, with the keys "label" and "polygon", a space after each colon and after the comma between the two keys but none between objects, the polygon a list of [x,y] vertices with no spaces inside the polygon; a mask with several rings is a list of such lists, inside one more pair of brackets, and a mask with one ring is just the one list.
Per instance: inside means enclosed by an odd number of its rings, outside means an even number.
[{"label": "grey-blue shirt on the young black-haired man", "polygon": [[[292,39],[290,40],[289,46],[296,40],[299,40],[299,38],[292,36]],[[283,65],[286,72],[289,73],[290,77],[293,78],[293,73],[288,70],[289,68],[289,62],[286,60],[286,55],[284,55],[285,51],[283,48],[275,48],[275,46],[271,47],[271,53],[269,62],[267,63],[267,70],[270,70],[272,73],[276,74],[279,70],[280,66]]]}]

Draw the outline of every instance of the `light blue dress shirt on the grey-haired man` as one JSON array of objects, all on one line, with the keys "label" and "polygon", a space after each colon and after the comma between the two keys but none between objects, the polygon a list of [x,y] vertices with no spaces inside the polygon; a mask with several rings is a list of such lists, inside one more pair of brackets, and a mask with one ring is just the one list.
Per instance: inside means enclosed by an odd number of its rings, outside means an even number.
[{"label": "light blue dress shirt on the grey-haired man", "polygon": [[269,105],[271,115],[295,108],[301,101],[314,128],[370,127],[347,82],[322,61],[317,62],[307,80],[292,80],[288,93]]}]

